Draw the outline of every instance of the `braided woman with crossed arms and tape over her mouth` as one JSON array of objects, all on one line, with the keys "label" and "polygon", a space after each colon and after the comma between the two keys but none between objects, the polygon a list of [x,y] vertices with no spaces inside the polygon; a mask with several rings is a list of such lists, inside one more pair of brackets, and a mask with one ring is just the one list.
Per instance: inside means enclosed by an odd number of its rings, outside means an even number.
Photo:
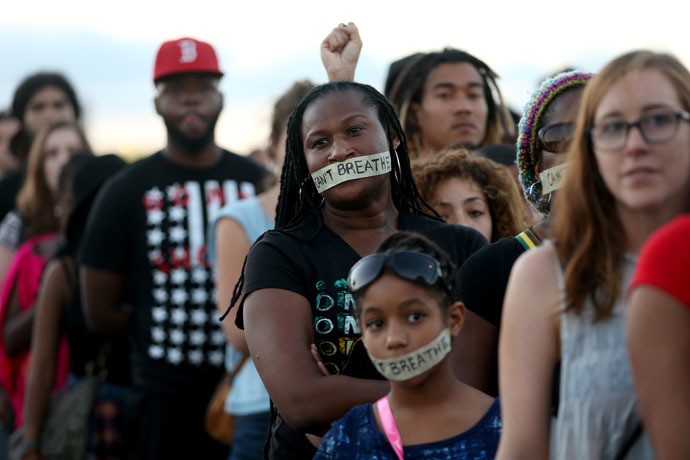
[{"label": "braided woman with crossed arms and tape over her mouth", "polygon": [[456,266],[486,240],[424,203],[395,112],[368,85],[338,81],[305,96],[288,122],[280,187],[275,230],[251,248],[231,304],[241,297],[237,323],[274,403],[268,458],[311,458],[305,433],[323,435],[389,390],[362,348],[352,265],[399,230],[427,236]]}]

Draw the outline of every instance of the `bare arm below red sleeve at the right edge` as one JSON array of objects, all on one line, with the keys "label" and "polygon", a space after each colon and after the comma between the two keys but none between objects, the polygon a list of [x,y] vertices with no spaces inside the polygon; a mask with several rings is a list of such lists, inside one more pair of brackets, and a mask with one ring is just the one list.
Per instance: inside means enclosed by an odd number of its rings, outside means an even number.
[{"label": "bare arm below red sleeve at the right edge", "polygon": [[659,459],[690,458],[690,310],[649,286],[630,296],[628,348],[645,430]]}]

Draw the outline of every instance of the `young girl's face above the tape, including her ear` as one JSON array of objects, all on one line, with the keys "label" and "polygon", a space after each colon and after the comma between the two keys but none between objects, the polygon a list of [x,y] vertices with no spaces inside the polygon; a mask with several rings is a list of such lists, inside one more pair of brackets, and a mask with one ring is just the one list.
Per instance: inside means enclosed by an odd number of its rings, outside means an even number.
[{"label": "young girl's face above the tape, including her ear", "polygon": [[453,304],[445,312],[439,300],[420,284],[388,272],[381,275],[367,287],[357,305],[362,340],[369,354],[378,359],[403,356],[428,345],[445,328],[455,337],[462,326],[461,304]]}]

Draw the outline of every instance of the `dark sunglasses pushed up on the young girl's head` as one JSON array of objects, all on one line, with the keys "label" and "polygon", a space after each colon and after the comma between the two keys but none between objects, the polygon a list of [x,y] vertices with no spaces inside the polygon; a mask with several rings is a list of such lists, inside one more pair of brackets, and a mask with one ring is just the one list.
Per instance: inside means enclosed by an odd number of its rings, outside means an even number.
[{"label": "dark sunglasses pushed up on the young girl's head", "polygon": [[386,264],[403,279],[423,281],[429,286],[440,283],[450,295],[450,289],[443,279],[441,264],[433,257],[415,251],[371,254],[363,257],[350,269],[350,275],[347,277],[350,291],[354,294],[376,281]]}]

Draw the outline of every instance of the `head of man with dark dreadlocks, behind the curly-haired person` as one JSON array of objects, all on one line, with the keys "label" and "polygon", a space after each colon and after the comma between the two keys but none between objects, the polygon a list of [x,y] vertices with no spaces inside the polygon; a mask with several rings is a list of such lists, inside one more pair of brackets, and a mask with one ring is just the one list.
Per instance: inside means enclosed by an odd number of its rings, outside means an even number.
[{"label": "head of man with dark dreadlocks, behind the curly-haired person", "polygon": [[497,78],[483,61],[454,48],[409,59],[387,86],[411,155],[512,142],[515,128]]}]

